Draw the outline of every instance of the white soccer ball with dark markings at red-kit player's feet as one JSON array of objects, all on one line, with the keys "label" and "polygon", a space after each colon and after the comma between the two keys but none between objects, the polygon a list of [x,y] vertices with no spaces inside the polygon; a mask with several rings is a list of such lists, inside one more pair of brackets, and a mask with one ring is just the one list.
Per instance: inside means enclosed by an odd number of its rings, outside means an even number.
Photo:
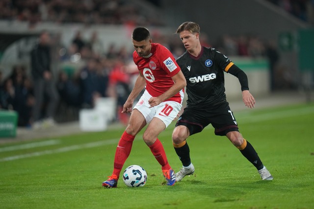
[{"label": "white soccer ball with dark markings at red-kit player's feet", "polygon": [[147,181],[147,173],[139,165],[130,165],[123,172],[123,181],[129,187],[144,186]]}]

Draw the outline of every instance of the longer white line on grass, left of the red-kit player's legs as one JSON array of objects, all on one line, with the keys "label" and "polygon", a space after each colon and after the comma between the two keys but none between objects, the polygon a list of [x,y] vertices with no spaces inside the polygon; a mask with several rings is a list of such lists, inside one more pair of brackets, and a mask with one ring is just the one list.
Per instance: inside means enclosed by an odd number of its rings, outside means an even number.
[{"label": "longer white line on grass, left of the red-kit player's legs", "polygon": [[95,141],[95,142],[90,142],[86,144],[76,144],[72,146],[60,147],[58,149],[53,149],[53,150],[45,150],[45,151],[40,151],[40,152],[27,153],[24,155],[15,155],[11,157],[1,158],[0,162],[14,161],[14,160],[25,159],[25,158],[30,158],[30,157],[50,155],[50,154],[56,154],[56,153],[62,153],[62,152],[69,152],[69,151],[78,150],[78,149],[109,145],[109,144],[117,143],[117,141],[118,139],[109,139],[105,141]]}]

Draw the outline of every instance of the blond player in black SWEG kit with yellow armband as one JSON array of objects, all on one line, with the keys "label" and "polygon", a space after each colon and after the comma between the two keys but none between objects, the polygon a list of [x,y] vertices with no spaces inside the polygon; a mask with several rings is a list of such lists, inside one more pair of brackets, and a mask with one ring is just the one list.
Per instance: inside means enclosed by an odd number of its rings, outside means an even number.
[{"label": "blond player in black SWEG kit with yellow armband", "polygon": [[253,108],[255,99],[249,92],[246,74],[215,48],[201,46],[200,26],[185,22],[177,29],[186,51],[177,59],[185,79],[187,106],[172,133],[172,141],[183,167],[176,173],[177,182],[194,173],[186,139],[211,124],[215,135],[226,136],[258,170],[262,180],[273,180],[253,146],[243,139],[233,112],[226,100],[224,72],[231,73],[241,84],[245,106]]}]

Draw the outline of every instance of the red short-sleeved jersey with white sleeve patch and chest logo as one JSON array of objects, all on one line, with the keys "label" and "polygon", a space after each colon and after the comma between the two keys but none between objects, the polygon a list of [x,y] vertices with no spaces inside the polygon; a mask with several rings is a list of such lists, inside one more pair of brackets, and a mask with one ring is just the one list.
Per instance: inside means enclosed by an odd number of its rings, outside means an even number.
[{"label": "red short-sleeved jersey with white sleeve patch and chest logo", "polygon": [[[133,52],[133,61],[146,79],[146,90],[152,96],[157,97],[173,86],[172,76],[181,69],[171,52],[160,44],[152,43],[151,54],[148,57],[140,57]],[[176,93],[166,101],[182,103],[183,90]]]}]

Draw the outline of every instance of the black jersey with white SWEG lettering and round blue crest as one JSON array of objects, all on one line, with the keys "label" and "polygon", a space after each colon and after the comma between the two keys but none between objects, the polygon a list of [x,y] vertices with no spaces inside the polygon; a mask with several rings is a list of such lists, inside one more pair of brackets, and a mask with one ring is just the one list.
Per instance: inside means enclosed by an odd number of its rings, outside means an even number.
[{"label": "black jersey with white SWEG lettering and round blue crest", "polygon": [[226,101],[224,71],[234,65],[228,57],[202,46],[198,57],[185,51],[177,63],[186,79],[188,106],[209,107]]}]

